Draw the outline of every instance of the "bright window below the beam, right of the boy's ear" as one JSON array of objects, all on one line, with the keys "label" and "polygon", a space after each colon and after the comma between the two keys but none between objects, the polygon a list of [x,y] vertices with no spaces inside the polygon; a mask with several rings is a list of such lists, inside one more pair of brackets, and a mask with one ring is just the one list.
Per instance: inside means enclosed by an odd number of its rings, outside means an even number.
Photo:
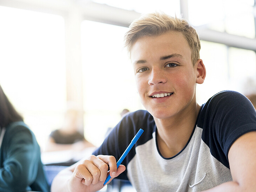
[{"label": "bright window below the beam, right of the boy's ear", "polygon": [[197,84],[197,102],[203,104],[219,91],[242,94],[256,92],[256,54],[254,51],[201,41],[200,57],[206,66],[206,79]]}]

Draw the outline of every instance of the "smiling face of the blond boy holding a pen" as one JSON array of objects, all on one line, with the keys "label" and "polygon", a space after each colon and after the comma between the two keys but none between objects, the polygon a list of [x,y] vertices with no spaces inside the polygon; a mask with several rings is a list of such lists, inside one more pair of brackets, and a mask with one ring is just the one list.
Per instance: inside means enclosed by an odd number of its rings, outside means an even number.
[{"label": "smiling face of the blond boy holding a pen", "polygon": [[197,68],[182,33],[141,37],[131,60],[142,104],[155,118],[186,114],[195,106]]}]

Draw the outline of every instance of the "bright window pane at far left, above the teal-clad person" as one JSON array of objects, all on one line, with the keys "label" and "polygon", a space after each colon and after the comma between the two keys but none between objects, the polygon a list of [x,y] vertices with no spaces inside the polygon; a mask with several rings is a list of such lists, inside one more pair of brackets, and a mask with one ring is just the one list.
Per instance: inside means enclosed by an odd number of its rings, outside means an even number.
[{"label": "bright window pane at far left, above the teal-clad person", "polygon": [[41,146],[66,107],[64,20],[0,6],[0,84]]}]

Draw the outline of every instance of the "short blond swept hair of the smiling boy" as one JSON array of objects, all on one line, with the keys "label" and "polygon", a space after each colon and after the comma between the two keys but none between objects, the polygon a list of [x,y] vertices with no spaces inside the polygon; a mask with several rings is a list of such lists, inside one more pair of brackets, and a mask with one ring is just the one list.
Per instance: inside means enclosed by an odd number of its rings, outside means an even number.
[{"label": "short blond swept hair of the smiling boy", "polygon": [[191,61],[193,65],[200,59],[200,39],[196,30],[185,19],[169,16],[163,12],[142,15],[134,20],[124,36],[124,46],[130,55],[133,44],[144,36],[162,35],[169,31],[181,32],[191,49]]}]

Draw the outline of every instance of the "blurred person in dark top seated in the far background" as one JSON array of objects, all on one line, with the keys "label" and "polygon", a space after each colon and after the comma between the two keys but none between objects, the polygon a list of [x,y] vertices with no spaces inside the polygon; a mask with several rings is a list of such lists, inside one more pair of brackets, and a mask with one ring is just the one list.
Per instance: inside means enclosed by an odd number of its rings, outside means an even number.
[{"label": "blurred person in dark top seated in the far background", "polygon": [[68,103],[64,122],[60,129],[52,131],[46,145],[46,151],[81,151],[94,145],[79,132],[79,109],[74,103]]}]

